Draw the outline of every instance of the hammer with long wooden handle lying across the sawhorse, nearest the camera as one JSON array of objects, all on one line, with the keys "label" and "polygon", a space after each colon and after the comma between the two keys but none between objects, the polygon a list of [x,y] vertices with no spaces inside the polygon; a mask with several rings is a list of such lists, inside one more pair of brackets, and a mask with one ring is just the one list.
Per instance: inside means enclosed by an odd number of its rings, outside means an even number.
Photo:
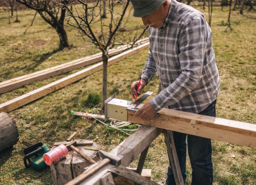
[{"label": "hammer with long wooden handle lying across the sawhorse, nearest the camera", "polygon": [[69,181],[66,185],[75,185],[75,184],[81,183],[85,178],[87,178],[88,176],[90,176],[91,174],[99,170],[101,167],[104,167],[108,163],[115,165],[116,167],[121,165],[121,158],[111,153],[99,150],[99,156],[103,159],[102,161],[99,161],[91,165],[85,172],[77,176],[72,181]]}]

